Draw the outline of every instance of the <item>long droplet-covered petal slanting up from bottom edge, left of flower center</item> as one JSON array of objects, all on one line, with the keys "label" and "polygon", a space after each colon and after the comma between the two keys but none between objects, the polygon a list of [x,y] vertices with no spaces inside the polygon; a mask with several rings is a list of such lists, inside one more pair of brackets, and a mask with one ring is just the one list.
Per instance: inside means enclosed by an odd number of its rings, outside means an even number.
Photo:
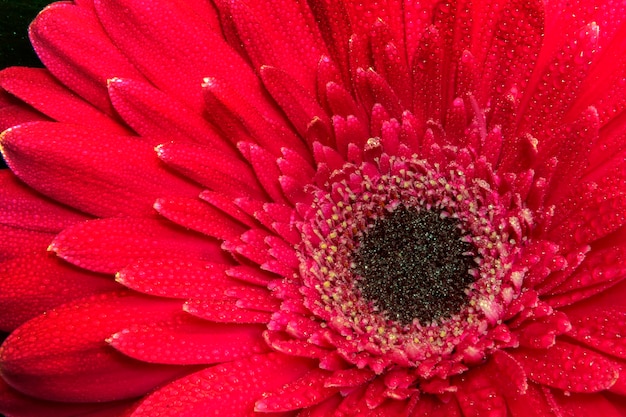
[{"label": "long droplet-covered petal slanting up from bottom edge, left of flower center", "polygon": [[132,417],[250,416],[264,393],[298,379],[311,366],[275,353],[214,366],[156,391]]}]

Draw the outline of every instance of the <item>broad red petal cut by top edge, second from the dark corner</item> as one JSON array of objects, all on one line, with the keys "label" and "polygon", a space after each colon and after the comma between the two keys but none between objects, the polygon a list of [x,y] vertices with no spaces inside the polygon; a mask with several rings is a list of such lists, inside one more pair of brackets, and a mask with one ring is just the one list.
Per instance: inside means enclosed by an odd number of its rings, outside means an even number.
[{"label": "broad red petal cut by top edge, second from the dark corner", "polygon": [[116,48],[158,89],[197,114],[204,110],[204,77],[232,81],[250,101],[263,103],[252,70],[186,3],[107,0],[96,2],[96,10]]}]

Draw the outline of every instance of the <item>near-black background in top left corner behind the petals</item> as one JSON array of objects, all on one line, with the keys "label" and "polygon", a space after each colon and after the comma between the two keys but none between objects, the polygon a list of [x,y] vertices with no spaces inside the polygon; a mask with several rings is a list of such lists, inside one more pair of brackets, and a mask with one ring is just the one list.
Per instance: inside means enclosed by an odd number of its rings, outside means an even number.
[{"label": "near-black background in top left corner behind the petals", "polygon": [[[48,3],[50,0],[0,0],[0,69],[42,66],[28,41],[28,24]],[[1,157],[0,168],[6,168]],[[5,336],[0,333],[0,341]]]}]

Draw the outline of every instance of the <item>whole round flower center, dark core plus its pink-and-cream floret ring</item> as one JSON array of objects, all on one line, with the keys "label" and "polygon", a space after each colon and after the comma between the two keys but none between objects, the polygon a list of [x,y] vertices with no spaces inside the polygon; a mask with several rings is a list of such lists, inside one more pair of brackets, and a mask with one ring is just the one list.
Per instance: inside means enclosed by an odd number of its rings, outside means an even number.
[{"label": "whole round flower center, dark core plus its pink-and-cream floret ring", "polygon": [[[293,279],[321,329],[302,337],[376,372],[429,363],[429,377],[483,357],[520,293],[525,271],[512,265],[532,221],[500,199],[490,168],[383,153],[322,178],[299,207]],[[269,327],[296,334],[289,297]]]}]

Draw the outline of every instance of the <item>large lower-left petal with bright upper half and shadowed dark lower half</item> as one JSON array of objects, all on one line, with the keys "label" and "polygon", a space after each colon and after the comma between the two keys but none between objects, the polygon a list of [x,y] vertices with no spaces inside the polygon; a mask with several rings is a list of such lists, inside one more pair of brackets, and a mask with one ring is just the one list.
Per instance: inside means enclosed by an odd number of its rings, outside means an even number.
[{"label": "large lower-left petal with bright upper half and shadowed dark lower half", "polygon": [[104,339],[134,323],[164,320],[179,309],[178,302],[122,292],[65,304],[9,336],[0,349],[3,378],[21,392],[55,401],[143,395],[184,370],[129,359]]}]

